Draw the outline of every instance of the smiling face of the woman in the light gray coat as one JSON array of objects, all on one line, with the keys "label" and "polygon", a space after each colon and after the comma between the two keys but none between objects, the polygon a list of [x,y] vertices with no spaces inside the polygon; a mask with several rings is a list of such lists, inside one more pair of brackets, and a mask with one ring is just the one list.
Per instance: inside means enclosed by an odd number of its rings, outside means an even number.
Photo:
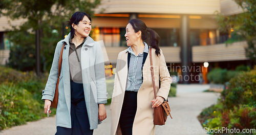
[{"label": "smiling face of the woman in the light gray coat", "polygon": [[87,16],[84,16],[83,19],[79,22],[78,25],[74,25],[75,35],[78,37],[88,37],[91,30],[91,21]]}]

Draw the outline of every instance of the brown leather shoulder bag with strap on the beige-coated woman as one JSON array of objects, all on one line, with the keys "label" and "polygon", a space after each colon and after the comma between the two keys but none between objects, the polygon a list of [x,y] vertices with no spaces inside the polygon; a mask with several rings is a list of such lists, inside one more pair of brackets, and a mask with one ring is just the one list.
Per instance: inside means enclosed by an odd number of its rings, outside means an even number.
[{"label": "brown leather shoulder bag with strap on the beige-coated woman", "polygon": [[[155,77],[154,77],[154,66],[152,64],[152,48],[150,48],[150,69],[151,69],[151,76],[154,88],[154,95],[155,99],[157,97],[156,92],[156,84],[155,84]],[[170,115],[170,106],[168,104],[168,99],[164,101],[160,106],[154,108],[154,124],[155,125],[164,125],[167,119],[167,116]],[[173,117],[170,115],[170,118]]]}]

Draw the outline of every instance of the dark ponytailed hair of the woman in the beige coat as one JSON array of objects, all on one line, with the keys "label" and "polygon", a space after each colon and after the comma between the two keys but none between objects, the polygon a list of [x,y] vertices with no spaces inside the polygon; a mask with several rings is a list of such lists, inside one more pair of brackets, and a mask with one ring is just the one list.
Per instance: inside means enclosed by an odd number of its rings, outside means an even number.
[{"label": "dark ponytailed hair of the woman in the beige coat", "polygon": [[148,28],[146,24],[140,19],[131,19],[129,20],[129,24],[133,26],[135,32],[141,31],[141,39],[143,41],[147,39],[147,32],[149,32],[150,46],[156,49],[157,56],[160,55],[160,49],[158,47],[160,41],[159,35],[154,30]]}]

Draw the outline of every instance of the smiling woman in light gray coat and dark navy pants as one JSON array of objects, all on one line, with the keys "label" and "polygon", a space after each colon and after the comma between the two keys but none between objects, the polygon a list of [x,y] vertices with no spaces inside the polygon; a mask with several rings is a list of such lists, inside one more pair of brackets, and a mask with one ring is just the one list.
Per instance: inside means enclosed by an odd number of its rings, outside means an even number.
[{"label": "smiling woman in light gray coat and dark navy pants", "polygon": [[104,58],[100,44],[90,36],[91,17],[84,12],[72,15],[69,35],[57,43],[52,68],[42,100],[50,111],[58,78],[58,60],[62,44],[62,66],[56,112],[56,134],[93,134],[106,118]]}]

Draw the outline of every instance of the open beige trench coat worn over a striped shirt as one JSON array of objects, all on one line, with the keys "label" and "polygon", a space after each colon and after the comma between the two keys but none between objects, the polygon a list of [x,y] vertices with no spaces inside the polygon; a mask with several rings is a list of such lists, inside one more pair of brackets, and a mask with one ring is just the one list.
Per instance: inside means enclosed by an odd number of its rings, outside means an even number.
[{"label": "open beige trench coat worn over a striped shirt", "polygon": [[[171,78],[165,63],[165,59],[161,52],[158,57],[152,49],[152,60],[154,66],[154,75],[157,89],[157,96],[165,99],[168,97]],[[116,75],[114,82],[114,90],[111,102],[111,135],[121,135],[119,126],[119,118],[121,114],[124,92],[127,80],[127,52],[126,50],[118,54],[116,65]],[[148,53],[145,64],[143,66],[143,83],[137,94],[137,111],[133,123],[133,135],[154,135],[154,108],[152,108],[151,100],[154,99],[153,83],[150,70],[150,54]],[[160,76],[159,76],[160,75]],[[159,77],[161,81],[161,88],[159,89]]]}]

